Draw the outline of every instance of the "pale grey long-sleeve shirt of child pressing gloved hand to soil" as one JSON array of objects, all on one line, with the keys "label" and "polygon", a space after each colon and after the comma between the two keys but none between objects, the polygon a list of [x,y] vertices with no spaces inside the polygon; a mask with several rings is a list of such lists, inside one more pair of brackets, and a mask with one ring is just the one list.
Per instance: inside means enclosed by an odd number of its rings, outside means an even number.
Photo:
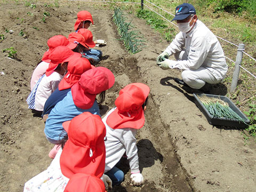
[{"label": "pale grey long-sleeve shirt of child pressing gloved hand to soil", "polygon": [[102,119],[106,126],[106,165],[105,173],[111,170],[122,158],[126,151],[127,159],[129,160],[131,172],[139,171],[139,157],[136,146],[136,129],[112,129],[106,123],[108,116],[115,110],[111,109]]}]

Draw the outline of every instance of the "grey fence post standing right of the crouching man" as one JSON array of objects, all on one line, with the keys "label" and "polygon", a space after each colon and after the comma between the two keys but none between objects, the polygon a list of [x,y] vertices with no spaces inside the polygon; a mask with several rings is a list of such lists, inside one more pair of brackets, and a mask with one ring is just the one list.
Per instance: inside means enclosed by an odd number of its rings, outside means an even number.
[{"label": "grey fence post standing right of the crouching man", "polygon": [[232,78],[232,82],[231,82],[231,86],[230,86],[230,91],[231,92],[233,92],[236,89],[236,86],[237,86],[239,71],[240,71],[239,65],[241,65],[242,58],[243,58],[243,52],[242,51],[244,51],[244,44],[239,43],[238,49],[237,49],[237,54],[236,54],[235,69],[234,69],[233,78]]}]

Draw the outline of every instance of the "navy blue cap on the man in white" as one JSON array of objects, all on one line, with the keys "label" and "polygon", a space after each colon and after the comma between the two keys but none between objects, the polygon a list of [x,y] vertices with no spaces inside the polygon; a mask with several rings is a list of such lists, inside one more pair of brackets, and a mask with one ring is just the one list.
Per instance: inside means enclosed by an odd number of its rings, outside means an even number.
[{"label": "navy blue cap on the man in white", "polygon": [[182,5],[178,5],[175,9],[175,17],[174,20],[183,20],[186,19],[190,14],[196,14],[195,7],[189,3],[183,3]]}]

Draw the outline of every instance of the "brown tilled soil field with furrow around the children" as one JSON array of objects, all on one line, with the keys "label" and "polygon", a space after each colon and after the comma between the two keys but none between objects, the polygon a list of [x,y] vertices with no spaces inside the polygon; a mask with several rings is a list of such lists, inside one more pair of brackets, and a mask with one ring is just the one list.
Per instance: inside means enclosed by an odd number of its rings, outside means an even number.
[{"label": "brown tilled soil field with furrow around the children", "polygon": [[[210,125],[194,103],[193,94],[174,82],[178,70],[162,70],[156,57],[168,43],[144,20],[127,14],[146,39],[146,47],[129,54],[118,40],[111,19],[114,11],[86,2],[60,3],[59,7],[36,3],[0,3],[0,191],[23,191],[26,181],[50,165],[53,147],[44,135],[44,122],[27,108],[30,78],[47,40],[54,35],[68,36],[74,31],[78,11],[90,11],[94,39],[105,39],[99,47],[99,65],[109,68],[116,82],[106,92],[101,115],[114,107],[120,89],[133,82],[150,87],[146,123],[138,131],[140,170],[145,178],[141,187],[130,185],[129,165],[122,162],[125,181],[112,191],[247,191],[256,189],[254,141],[244,145],[241,130]],[[29,14],[29,13],[31,14]],[[49,12],[45,17],[43,13]],[[13,30],[13,33],[6,33]],[[19,35],[23,31],[23,36]],[[17,57],[8,58],[3,49],[14,47]],[[226,85],[213,86],[211,94],[227,94]]]}]

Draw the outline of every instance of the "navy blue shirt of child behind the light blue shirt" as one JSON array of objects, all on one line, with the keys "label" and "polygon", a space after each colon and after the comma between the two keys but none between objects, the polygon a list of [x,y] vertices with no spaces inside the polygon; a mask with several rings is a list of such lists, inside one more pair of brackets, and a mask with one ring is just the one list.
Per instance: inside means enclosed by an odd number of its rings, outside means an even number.
[{"label": "navy blue shirt of child behind the light blue shirt", "polygon": [[51,110],[53,109],[53,107],[55,107],[55,105],[61,101],[63,98],[66,97],[67,93],[71,90],[70,89],[66,89],[66,90],[59,90],[59,87],[53,91],[53,93],[50,95],[50,97],[46,100],[45,104],[44,104],[44,111],[42,114],[50,114]]}]

